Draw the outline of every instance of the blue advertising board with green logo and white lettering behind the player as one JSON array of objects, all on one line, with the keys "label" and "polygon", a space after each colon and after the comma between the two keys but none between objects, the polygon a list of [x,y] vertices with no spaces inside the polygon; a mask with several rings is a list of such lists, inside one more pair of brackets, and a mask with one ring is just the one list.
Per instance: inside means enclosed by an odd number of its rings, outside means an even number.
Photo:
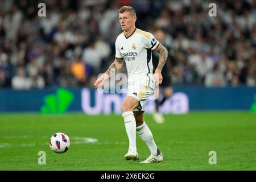
[{"label": "blue advertising board with green logo and white lettering behind the player", "polygon": [[[0,112],[85,114],[121,112],[126,94],[102,94],[93,88],[47,88],[42,90],[0,89]],[[175,87],[174,94],[160,110],[183,114],[193,110],[251,110],[256,104],[256,87],[236,88]],[[154,110],[154,100],[147,100],[146,112]]]}]

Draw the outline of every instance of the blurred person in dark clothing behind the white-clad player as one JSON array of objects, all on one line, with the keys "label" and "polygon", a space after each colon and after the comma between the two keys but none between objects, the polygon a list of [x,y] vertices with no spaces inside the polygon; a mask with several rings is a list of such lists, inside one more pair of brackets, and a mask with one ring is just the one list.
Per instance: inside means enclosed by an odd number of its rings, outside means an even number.
[{"label": "blurred person in dark clothing behind the white-clad player", "polygon": [[[159,29],[154,32],[155,38],[162,44],[164,45],[164,39],[165,39],[165,34],[164,31]],[[164,45],[168,50],[168,46]],[[158,65],[158,57],[159,53],[158,52],[152,52],[152,63],[154,66],[153,72],[155,72],[155,68]],[[170,56],[167,57],[166,64],[164,65],[162,69],[162,76],[163,76],[163,82],[161,86],[159,86],[159,89],[157,93],[163,92],[163,97],[161,99],[156,99],[155,100],[155,111],[153,113],[153,118],[155,119],[156,123],[164,123],[164,117],[163,114],[159,112],[159,107],[164,104],[164,101],[166,101],[169,97],[172,96],[173,89],[171,86],[171,77],[170,77],[170,72],[171,72],[171,61],[170,61]]]}]

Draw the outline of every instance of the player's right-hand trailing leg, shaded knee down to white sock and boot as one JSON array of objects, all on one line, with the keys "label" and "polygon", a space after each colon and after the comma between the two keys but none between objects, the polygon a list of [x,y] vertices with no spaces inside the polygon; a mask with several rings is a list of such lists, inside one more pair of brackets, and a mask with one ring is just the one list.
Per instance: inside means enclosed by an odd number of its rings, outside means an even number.
[{"label": "player's right-hand trailing leg, shaded knee down to white sock and boot", "polygon": [[134,111],[134,117],[136,120],[136,130],[139,134],[139,137],[146,143],[149,148],[151,155],[141,163],[152,163],[152,162],[162,162],[163,155],[162,152],[158,149],[155,144],[153,135],[146,122],[144,121],[144,113],[143,111]]}]

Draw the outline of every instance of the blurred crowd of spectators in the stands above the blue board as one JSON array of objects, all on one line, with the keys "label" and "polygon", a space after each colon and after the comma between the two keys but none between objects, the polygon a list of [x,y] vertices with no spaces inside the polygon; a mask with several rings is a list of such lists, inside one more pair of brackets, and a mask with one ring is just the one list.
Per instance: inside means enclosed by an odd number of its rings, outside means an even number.
[{"label": "blurred crowd of spectators in the stands above the blue board", "polygon": [[123,5],[138,28],[164,31],[173,85],[256,86],[256,1],[1,0],[0,88],[93,86],[114,59]]}]

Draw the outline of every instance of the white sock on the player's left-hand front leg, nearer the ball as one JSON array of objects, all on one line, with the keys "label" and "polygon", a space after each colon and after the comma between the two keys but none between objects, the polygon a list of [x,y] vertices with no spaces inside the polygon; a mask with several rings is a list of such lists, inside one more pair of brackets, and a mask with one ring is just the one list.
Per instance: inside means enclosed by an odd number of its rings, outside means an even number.
[{"label": "white sock on the player's left-hand front leg, nearer the ball", "polygon": [[137,152],[136,147],[136,121],[133,115],[133,111],[127,111],[122,114],[125,119],[125,129],[129,138],[129,150]]}]

